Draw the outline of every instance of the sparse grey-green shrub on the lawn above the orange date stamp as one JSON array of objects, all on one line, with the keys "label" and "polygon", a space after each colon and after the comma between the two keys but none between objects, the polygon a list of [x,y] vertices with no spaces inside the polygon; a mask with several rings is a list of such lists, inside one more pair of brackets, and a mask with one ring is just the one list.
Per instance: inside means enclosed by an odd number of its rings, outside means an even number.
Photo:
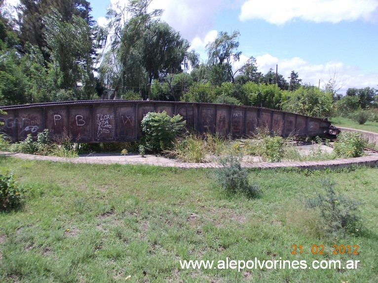
[{"label": "sparse grey-green shrub on the lawn above the orange date stamp", "polygon": [[352,232],[359,234],[360,217],[354,212],[357,211],[361,202],[349,200],[347,197],[335,192],[335,183],[330,180],[321,181],[326,191],[325,195],[318,195],[316,198],[307,199],[308,208],[317,208],[324,221],[324,230],[327,233]]}]

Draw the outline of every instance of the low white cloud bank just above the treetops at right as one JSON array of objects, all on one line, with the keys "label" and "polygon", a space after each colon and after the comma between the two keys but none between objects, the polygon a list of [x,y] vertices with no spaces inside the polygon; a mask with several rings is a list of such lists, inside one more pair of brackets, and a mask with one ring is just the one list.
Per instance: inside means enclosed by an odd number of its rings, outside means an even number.
[{"label": "low white cloud bank just above the treetops at right", "polygon": [[299,57],[279,59],[270,54],[256,57],[256,62],[259,71],[263,73],[268,72],[270,68],[275,71],[276,65],[278,65],[278,73],[282,74],[287,81],[291,71],[295,71],[302,79],[302,83],[318,86],[320,80],[320,88],[323,88],[325,83],[336,74],[337,82],[340,86],[342,85],[340,93],[345,93],[349,87],[377,87],[378,72],[362,74],[358,68],[346,66],[342,62],[310,64]]}]

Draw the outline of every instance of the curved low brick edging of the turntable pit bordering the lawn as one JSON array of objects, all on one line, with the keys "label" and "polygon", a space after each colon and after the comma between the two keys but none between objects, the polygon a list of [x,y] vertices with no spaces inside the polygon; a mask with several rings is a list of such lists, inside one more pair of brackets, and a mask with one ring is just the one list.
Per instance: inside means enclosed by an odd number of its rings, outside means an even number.
[{"label": "curved low brick edging of the turntable pit bordering the lawn", "polygon": [[[68,163],[88,163],[88,164],[130,164],[130,165],[154,165],[161,167],[177,167],[177,168],[221,168],[222,166],[217,163],[180,163],[180,162],[149,162],[148,158],[144,161],[137,160],[88,160],[84,158],[68,158],[68,157],[55,157],[55,156],[42,156],[24,153],[2,152],[1,156],[11,156],[21,158],[24,160],[47,160],[52,162],[68,162]],[[340,158],[335,160],[322,160],[322,161],[293,161],[293,162],[259,162],[259,163],[242,163],[245,168],[260,168],[260,169],[275,169],[275,168],[299,168],[310,170],[322,170],[326,168],[338,169],[350,167],[352,165],[376,167],[378,166],[378,154],[370,153],[366,156],[355,158]]]}]

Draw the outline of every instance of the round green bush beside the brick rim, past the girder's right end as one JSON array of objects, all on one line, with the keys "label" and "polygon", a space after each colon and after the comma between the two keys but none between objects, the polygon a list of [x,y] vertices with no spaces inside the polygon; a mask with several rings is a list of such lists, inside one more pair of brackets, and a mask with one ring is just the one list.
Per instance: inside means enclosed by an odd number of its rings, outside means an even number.
[{"label": "round green bush beside the brick rim, past the girder's right end", "polygon": [[334,154],[337,157],[360,157],[364,154],[366,141],[358,132],[345,132],[338,136],[334,143]]}]

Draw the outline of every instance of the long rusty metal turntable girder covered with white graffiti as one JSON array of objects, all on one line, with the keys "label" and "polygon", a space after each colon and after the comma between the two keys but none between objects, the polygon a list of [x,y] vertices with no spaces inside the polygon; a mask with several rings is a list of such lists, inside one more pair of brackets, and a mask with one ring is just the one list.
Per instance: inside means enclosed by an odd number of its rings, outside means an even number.
[{"label": "long rusty metal turntable girder covered with white graffiti", "polygon": [[187,127],[200,133],[234,138],[252,135],[257,128],[282,136],[328,133],[327,119],[251,106],[183,102],[85,101],[2,107],[1,131],[12,141],[48,129],[53,138],[78,142],[135,141],[142,136],[141,121],[148,112],[180,114]]}]

